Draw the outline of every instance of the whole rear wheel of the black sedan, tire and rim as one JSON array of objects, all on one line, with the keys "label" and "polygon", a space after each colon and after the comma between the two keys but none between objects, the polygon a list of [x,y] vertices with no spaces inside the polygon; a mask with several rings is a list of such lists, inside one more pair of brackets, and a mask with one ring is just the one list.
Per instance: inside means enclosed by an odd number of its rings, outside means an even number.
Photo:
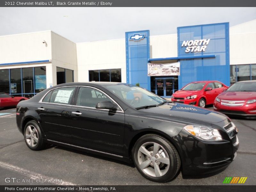
[{"label": "whole rear wheel of the black sedan, tire and rim", "polygon": [[[29,130],[30,127],[30,130]],[[31,136],[31,131],[33,136]],[[44,148],[45,142],[42,138],[42,132],[36,121],[29,121],[24,128],[24,140],[28,148],[38,151]],[[37,140],[37,141],[36,141]]]}]

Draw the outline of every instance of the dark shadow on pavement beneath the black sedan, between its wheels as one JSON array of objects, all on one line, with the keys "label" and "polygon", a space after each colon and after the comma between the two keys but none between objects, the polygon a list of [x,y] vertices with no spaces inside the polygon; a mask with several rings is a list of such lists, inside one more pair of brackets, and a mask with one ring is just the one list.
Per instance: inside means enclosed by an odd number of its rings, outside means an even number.
[{"label": "dark shadow on pavement beneath the black sedan, between its wheels", "polygon": [[102,159],[102,160],[105,160],[105,161],[110,161],[110,162],[114,162],[114,163],[118,163],[118,164],[122,164],[122,165],[126,165],[126,166],[129,166],[129,167],[135,168],[135,165],[133,163],[129,164],[129,163],[126,163],[126,162],[121,161],[121,160],[112,159],[110,157],[96,155],[96,154],[92,154],[92,153],[85,152],[85,151],[80,151],[80,150],[76,150],[76,149],[72,149],[72,148],[66,148],[66,147],[57,146],[57,145],[49,145],[45,149],[49,149],[49,148],[56,148],[56,149],[66,150],[66,151],[69,151],[69,152],[72,152],[72,153],[77,153],[77,154],[81,154],[81,155],[84,155],[84,156],[90,156],[90,157],[94,157],[94,158],[97,158],[97,159]]}]

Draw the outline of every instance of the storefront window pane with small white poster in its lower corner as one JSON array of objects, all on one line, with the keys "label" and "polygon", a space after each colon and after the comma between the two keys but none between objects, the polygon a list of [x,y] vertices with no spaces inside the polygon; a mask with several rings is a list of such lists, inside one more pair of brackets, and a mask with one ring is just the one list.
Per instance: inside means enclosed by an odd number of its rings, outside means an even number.
[{"label": "storefront window pane with small white poster in its lower corner", "polygon": [[21,70],[20,68],[10,69],[11,73],[11,94],[21,93]]}]

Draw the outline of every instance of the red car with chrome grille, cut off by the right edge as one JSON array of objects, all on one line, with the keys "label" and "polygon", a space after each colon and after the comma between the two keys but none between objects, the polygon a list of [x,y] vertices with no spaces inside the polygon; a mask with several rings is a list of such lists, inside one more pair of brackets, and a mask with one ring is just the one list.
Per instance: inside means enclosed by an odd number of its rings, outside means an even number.
[{"label": "red car with chrome grille, cut off by the right edge", "polygon": [[256,117],[256,80],[231,85],[216,97],[213,109],[227,115]]}]

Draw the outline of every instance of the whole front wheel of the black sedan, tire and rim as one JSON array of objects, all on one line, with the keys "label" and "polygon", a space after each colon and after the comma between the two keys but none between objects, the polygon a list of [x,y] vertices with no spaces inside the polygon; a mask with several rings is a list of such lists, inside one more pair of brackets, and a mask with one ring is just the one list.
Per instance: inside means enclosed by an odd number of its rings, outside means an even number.
[{"label": "whole front wheel of the black sedan, tire and rim", "polygon": [[132,158],[140,174],[151,181],[171,181],[180,170],[177,150],[170,141],[159,135],[140,137],[132,148]]}]

